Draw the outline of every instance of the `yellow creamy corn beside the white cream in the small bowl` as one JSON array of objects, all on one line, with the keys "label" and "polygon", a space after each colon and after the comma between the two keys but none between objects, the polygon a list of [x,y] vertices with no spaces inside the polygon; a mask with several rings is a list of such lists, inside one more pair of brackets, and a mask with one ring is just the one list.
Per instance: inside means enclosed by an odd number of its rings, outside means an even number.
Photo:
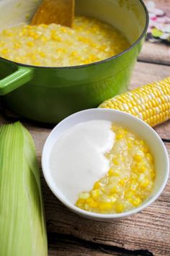
[{"label": "yellow creamy corn beside the white cream in the small bowl", "polygon": [[94,213],[122,213],[138,207],[153,189],[155,169],[146,143],[132,132],[112,125],[115,144],[106,154],[109,171],[76,206]]}]

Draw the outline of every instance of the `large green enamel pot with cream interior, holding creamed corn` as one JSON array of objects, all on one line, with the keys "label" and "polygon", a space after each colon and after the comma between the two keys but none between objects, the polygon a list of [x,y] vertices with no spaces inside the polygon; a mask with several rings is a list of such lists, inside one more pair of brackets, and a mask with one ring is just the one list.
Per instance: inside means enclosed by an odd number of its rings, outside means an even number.
[{"label": "large green enamel pot with cream interior, holding creamed corn", "polygon": [[[29,11],[32,15],[36,8],[35,1],[30,0],[30,6],[22,7],[20,12],[17,9],[16,19],[10,20],[9,8],[0,6],[0,15],[4,15],[1,28],[5,28],[4,24],[24,21],[24,14]],[[0,95],[4,95],[6,105],[20,116],[57,123],[76,111],[97,107],[128,89],[148,27],[148,12],[143,1],[77,0],[76,14],[115,25],[130,41],[130,48],[104,61],[77,67],[35,67],[0,58]]]}]

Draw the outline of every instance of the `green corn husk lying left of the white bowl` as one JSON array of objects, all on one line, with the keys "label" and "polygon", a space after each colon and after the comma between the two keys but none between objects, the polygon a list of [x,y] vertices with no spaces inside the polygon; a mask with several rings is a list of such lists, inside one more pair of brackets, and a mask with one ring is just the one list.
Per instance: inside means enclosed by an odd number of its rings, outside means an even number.
[{"label": "green corn husk lying left of the white bowl", "polygon": [[30,133],[0,127],[0,256],[47,256],[40,172]]}]

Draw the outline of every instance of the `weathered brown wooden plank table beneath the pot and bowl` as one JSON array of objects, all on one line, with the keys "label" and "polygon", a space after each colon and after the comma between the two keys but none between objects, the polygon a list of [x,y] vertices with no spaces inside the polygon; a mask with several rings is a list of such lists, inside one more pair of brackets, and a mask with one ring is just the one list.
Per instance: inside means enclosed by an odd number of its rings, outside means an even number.
[{"label": "weathered brown wooden plank table beneath the pot and bowl", "polygon": [[[158,1],[170,10],[170,1]],[[164,5],[166,4],[166,5]],[[170,47],[146,42],[133,72],[130,88],[170,76]],[[1,108],[0,123],[16,120]],[[42,146],[52,127],[40,127],[21,120],[37,149],[40,163]],[[170,121],[156,127],[170,155]],[[71,213],[50,192],[43,177],[42,192],[48,229],[49,256],[52,255],[170,255],[170,183],[161,196],[141,213],[120,221],[90,221]],[[23,255],[24,256],[24,255]],[[40,256],[40,255],[37,255]]]}]

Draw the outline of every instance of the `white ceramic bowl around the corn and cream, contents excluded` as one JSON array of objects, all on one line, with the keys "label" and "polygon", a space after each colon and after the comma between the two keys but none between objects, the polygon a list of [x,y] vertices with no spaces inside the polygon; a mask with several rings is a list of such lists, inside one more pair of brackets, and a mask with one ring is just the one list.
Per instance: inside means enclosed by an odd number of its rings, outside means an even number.
[{"label": "white ceramic bowl around the corn and cream, contents excluded", "polygon": [[[151,192],[151,195],[149,195],[149,197],[140,206],[138,206],[137,208],[133,208],[133,210],[129,210],[128,212],[101,214],[81,210],[80,208],[77,208],[75,205],[71,204],[71,202],[69,202],[66,197],[63,196],[63,194],[53,181],[52,176],[50,175],[50,153],[53,145],[58,140],[58,138],[61,137],[63,132],[72,127],[74,124],[95,119],[112,121],[112,123],[120,124],[122,125],[122,127],[125,127],[127,129],[130,129],[130,131],[135,132],[135,134],[137,134],[142,140],[147,143],[151,150],[151,153],[153,154],[156,168],[156,179],[153,191]],[[61,202],[63,202],[63,204],[71,209],[74,213],[78,213],[81,216],[84,216],[86,218],[93,218],[95,220],[108,220],[112,218],[124,218],[134,213],[138,213],[140,210],[143,210],[148,205],[151,205],[151,203],[158,198],[158,196],[161,194],[164,187],[166,186],[166,182],[169,176],[169,156],[161,138],[144,121],[130,114],[126,114],[122,111],[115,111],[104,108],[93,108],[80,111],[76,114],[68,116],[66,119],[61,121],[53,129],[52,132],[50,132],[50,135],[48,136],[48,139],[46,140],[42,151],[42,171],[45,176],[45,180],[48,183],[48,186],[53,191],[55,196],[58,197],[58,199],[61,200]]]}]

